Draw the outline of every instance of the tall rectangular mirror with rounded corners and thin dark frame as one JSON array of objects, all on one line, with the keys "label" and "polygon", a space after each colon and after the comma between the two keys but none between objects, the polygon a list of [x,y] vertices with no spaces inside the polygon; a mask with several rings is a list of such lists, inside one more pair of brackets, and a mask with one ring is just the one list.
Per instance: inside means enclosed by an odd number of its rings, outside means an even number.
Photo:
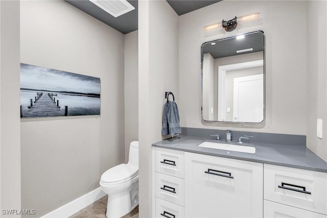
[{"label": "tall rectangular mirror with rounded corners and thin dark frame", "polygon": [[203,121],[260,123],[265,117],[264,33],[201,46]]}]

